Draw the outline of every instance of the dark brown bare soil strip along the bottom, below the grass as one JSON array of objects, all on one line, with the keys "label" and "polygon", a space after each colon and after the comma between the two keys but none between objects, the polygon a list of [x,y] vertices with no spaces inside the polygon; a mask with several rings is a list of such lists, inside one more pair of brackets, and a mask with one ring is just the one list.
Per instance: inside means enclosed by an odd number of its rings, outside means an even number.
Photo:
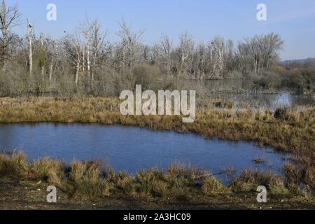
[{"label": "dark brown bare soil strip along the bottom, below the grass", "polygon": [[193,202],[159,202],[132,198],[106,197],[102,200],[80,200],[69,198],[57,190],[57,203],[46,202],[47,185],[43,183],[18,183],[9,179],[0,180],[1,210],[161,210],[161,209],[315,209],[314,197],[268,198],[266,204],[258,204],[256,194],[209,197],[200,200],[196,195]]}]

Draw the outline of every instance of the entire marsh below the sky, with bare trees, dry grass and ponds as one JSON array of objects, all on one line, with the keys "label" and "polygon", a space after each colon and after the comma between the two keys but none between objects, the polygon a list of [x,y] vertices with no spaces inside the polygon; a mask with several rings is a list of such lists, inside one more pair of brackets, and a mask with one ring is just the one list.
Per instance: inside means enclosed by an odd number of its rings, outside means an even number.
[{"label": "entire marsh below the sky, with bare trees, dry grass and ponds", "polygon": [[[315,209],[315,59],[281,62],[279,34],[147,45],[125,20],[109,41],[21,18],[1,1],[0,209]],[[196,91],[195,122],[123,116],[136,85]]]}]

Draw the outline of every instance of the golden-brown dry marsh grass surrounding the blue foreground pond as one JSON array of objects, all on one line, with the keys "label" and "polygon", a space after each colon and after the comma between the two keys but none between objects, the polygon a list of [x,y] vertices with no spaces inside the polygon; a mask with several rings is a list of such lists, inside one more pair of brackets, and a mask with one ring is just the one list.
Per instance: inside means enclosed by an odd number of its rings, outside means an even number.
[{"label": "golden-brown dry marsh grass surrounding the blue foreground pond", "polygon": [[[25,155],[16,153],[1,155],[0,173],[1,181],[4,181],[1,183],[6,186],[8,180],[15,180],[18,186],[55,184],[66,193],[68,200],[72,198],[74,204],[78,203],[77,197],[88,201],[123,197],[140,202],[141,199],[149,199],[158,204],[171,203],[177,208],[181,205],[189,207],[190,203],[193,206],[201,198],[206,204],[207,200],[210,200],[209,203],[211,200],[222,200],[222,195],[228,200],[227,204],[221,204],[223,208],[229,207],[228,202],[230,208],[237,207],[232,202],[233,198],[238,200],[243,193],[253,197],[256,185],[264,185],[274,195],[271,207],[279,208],[274,203],[279,202],[280,205],[281,200],[286,200],[290,208],[314,206],[314,108],[281,109],[275,113],[251,109],[218,110],[215,102],[209,102],[200,106],[195,123],[183,124],[180,116],[122,116],[119,104],[119,99],[109,98],[2,98],[0,122],[120,124],[152,130],[194,132],[209,139],[218,137],[254,141],[260,146],[272,146],[278,151],[290,152],[293,156],[284,165],[283,176],[244,170],[225,186],[211,173],[183,165],[173,165],[166,172],[148,169],[132,175],[103,169],[97,161],[73,161],[66,166],[61,161],[49,158],[27,162]],[[238,207],[251,208],[251,204],[255,204],[247,203],[239,204]],[[152,206],[150,203],[146,205]],[[198,206],[201,205],[196,205],[196,208]],[[211,208],[214,204],[208,206]]]}]

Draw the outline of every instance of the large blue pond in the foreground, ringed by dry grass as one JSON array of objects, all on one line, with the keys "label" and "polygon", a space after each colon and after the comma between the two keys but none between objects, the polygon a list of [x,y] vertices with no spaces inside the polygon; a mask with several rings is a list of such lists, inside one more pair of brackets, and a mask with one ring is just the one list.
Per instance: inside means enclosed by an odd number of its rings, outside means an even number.
[{"label": "large blue pond in the foreground, ringed by dry grass", "polygon": [[[29,160],[48,156],[71,162],[102,159],[116,171],[135,174],[152,167],[166,169],[174,162],[221,173],[245,168],[281,174],[289,155],[250,142],[204,139],[197,134],[152,131],[140,127],[99,124],[8,124],[0,125],[1,149],[24,152]],[[256,158],[264,158],[258,165]],[[225,174],[218,175],[226,181]]]}]

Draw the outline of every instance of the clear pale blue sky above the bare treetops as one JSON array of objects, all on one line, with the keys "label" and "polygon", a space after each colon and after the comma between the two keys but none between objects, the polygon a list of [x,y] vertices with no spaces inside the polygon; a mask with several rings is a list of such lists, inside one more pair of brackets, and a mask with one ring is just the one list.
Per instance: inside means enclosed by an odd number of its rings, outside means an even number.
[{"label": "clear pale blue sky above the bare treetops", "polygon": [[[7,0],[17,4],[27,18],[35,22],[36,34],[61,37],[71,33],[85,17],[98,18],[102,28],[116,40],[117,22],[123,18],[137,30],[145,29],[143,41],[152,44],[162,33],[178,42],[188,31],[197,43],[214,36],[241,41],[254,34],[280,34],[286,46],[281,59],[315,57],[315,0]],[[48,3],[57,6],[57,21],[46,20]],[[267,21],[256,19],[258,3],[267,6]],[[17,27],[26,34],[26,25]]]}]

